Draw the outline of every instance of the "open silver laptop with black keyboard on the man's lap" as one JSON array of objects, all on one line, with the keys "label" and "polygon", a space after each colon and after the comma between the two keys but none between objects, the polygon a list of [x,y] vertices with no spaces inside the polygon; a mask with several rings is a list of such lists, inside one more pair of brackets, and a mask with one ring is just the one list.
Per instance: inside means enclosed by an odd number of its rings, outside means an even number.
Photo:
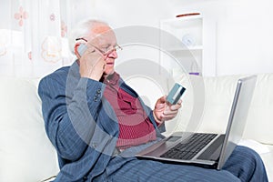
[{"label": "open silver laptop with black keyboard on the man's lap", "polygon": [[257,76],[238,79],[225,134],[177,132],[136,157],[220,170],[243,135],[256,80]]}]

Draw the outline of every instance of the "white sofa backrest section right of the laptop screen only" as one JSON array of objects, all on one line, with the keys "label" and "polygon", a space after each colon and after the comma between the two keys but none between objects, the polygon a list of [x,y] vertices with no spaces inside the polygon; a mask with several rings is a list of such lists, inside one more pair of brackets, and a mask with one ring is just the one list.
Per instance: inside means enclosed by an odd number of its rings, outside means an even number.
[{"label": "white sofa backrest section right of the laptop screen only", "polygon": [[273,144],[273,74],[258,75],[244,137]]}]

